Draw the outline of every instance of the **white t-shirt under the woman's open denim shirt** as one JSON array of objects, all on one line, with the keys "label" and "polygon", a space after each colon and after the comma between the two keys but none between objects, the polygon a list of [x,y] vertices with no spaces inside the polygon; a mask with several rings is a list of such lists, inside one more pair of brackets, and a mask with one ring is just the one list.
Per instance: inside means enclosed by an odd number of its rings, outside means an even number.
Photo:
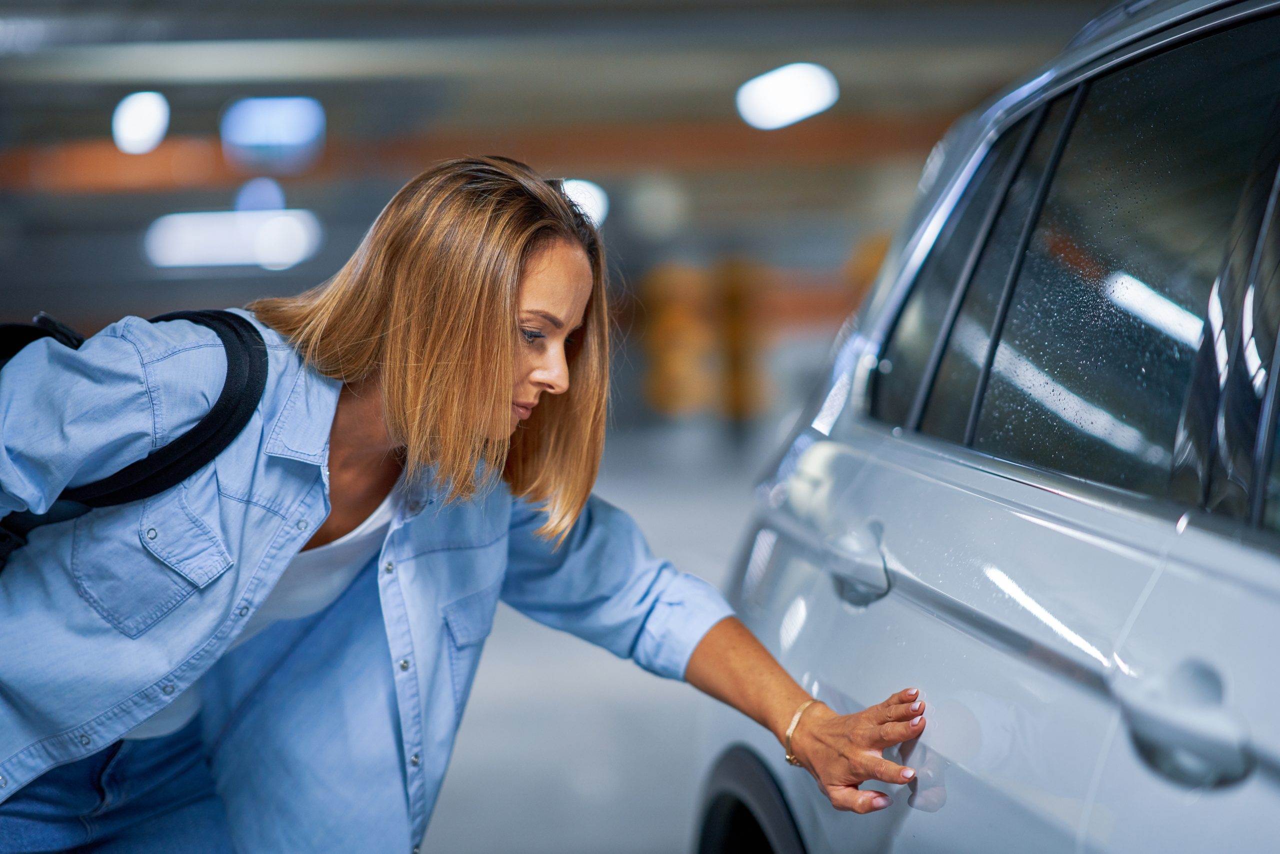
[{"label": "white t-shirt under the woman's open denim shirt", "polygon": [[[392,524],[392,493],[387,494],[369,519],[332,543],[298,552],[285,567],[275,588],[268,594],[243,631],[228,650],[236,649],[276,620],[297,620],[324,611],[365,568],[387,539]],[[125,739],[155,739],[172,735],[187,726],[200,712],[200,684],[179,694],[160,712],[129,730]]]}]

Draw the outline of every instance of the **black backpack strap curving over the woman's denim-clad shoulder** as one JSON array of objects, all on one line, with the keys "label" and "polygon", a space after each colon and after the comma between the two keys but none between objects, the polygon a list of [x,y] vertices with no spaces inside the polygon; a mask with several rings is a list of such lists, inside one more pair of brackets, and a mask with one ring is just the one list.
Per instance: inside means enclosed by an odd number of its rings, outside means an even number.
[{"label": "black backpack strap curving over the woman's denim-clad shoulder", "polygon": [[114,475],[60,495],[88,507],[150,498],[212,462],[241,434],[266,388],[266,342],[252,323],[230,311],[175,311],[151,323],[189,320],[214,330],[227,351],[227,379],[209,414],[169,444]]}]

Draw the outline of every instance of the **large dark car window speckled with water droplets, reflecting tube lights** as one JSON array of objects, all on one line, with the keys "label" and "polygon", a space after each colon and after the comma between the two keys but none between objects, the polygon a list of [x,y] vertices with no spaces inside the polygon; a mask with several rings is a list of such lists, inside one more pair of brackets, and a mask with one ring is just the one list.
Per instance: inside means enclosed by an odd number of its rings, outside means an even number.
[{"label": "large dark car window speckled with water droplets, reflecting tube lights", "polygon": [[1276,19],[1092,83],[1015,283],[974,447],[1169,493],[1210,291],[1277,91]]}]

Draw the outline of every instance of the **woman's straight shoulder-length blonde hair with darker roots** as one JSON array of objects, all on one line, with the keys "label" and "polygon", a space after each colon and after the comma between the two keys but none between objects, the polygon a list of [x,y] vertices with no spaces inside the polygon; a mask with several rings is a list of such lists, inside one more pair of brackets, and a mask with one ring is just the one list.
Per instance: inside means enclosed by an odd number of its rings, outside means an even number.
[{"label": "woman's straight shoulder-length blonde hair with darker roots", "polygon": [[[591,265],[570,388],[508,439],[520,280],[557,241]],[[447,499],[465,501],[500,471],[513,494],[543,504],[539,535],[559,542],[577,520],[604,447],[608,306],[604,245],[559,181],[507,157],[444,161],[396,193],[332,279],[248,309],[321,374],[379,375],[407,479],[434,467]]]}]

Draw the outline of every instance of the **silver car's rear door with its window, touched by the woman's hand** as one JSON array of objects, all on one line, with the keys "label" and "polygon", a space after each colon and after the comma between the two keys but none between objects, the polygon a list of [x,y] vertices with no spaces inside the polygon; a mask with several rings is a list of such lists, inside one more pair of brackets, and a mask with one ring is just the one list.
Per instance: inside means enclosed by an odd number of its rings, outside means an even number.
[{"label": "silver car's rear door with its window, touched by the woman's hand", "polygon": [[778,524],[762,585],[783,663],[836,708],[904,680],[931,705],[890,809],[796,793],[818,850],[1076,850],[1093,819],[1117,644],[1202,498],[1175,478],[1181,410],[1276,92],[1274,19],[1189,33],[1010,129],[1002,201],[957,205],[873,417],[796,448],[778,515],[810,542]]}]

